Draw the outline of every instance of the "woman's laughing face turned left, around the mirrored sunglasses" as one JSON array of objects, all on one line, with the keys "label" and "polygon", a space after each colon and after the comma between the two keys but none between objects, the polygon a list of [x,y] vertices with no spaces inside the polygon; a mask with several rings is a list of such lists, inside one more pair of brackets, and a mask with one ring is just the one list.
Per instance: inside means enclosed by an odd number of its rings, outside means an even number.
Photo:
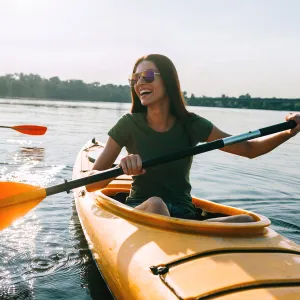
[{"label": "woman's laughing face turned left, around the mirrored sunglasses", "polygon": [[[156,65],[148,60],[143,60],[140,62],[136,68],[136,73],[141,73],[147,70],[153,70],[156,73],[159,73]],[[160,75],[154,76],[154,81],[147,83],[142,76],[138,79],[134,85],[134,90],[138,97],[141,100],[142,105],[148,106],[158,101],[167,99],[166,90],[163,83],[163,80]]]}]

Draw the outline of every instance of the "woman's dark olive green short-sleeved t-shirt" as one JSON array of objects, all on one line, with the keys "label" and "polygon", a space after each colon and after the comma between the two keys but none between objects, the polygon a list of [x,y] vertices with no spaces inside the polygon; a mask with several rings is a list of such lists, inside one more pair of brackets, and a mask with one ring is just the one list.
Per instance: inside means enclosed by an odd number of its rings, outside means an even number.
[{"label": "woman's dark olive green short-sleeved t-shirt", "polygon": [[[139,154],[142,160],[170,154],[199,142],[205,142],[213,124],[191,114],[183,126],[178,120],[166,132],[157,132],[149,127],[144,113],[122,116],[108,132],[129,154]],[[192,159],[187,157],[177,161],[150,167],[146,174],[133,176],[133,183],[127,199],[141,203],[157,196],[180,207],[193,209],[191,184],[189,179]]]}]

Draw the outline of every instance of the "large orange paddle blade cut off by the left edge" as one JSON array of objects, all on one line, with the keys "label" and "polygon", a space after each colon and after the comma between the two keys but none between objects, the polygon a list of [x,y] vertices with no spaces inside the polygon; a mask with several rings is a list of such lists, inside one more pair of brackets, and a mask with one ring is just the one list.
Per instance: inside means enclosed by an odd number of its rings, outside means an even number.
[{"label": "large orange paddle blade cut off by the left edge", "polygon": [[18,182],[0,182],[0,230],[23,217],[45,197],[46,190]]}]

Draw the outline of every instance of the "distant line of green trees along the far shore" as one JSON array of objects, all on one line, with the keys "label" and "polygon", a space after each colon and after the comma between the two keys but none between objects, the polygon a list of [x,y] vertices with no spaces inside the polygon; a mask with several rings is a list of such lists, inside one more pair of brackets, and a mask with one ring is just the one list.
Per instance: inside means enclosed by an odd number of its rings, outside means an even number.
[{"label": "distant line of green trees along the far shore", "polygon": [[[285,98],[252,98],[249,94],[239,97],[196,97],[187,92],[183,95],[188,105],[208,107],[232,107],[272,110],[300,110],[299,99]],[[85,83],[82,80],[60,80],[59,77],[49,79],[36,74],[14,73],[0,76],[1,98],[29,98],[81,100],[104,102],[131,102],[128,85]]]}]

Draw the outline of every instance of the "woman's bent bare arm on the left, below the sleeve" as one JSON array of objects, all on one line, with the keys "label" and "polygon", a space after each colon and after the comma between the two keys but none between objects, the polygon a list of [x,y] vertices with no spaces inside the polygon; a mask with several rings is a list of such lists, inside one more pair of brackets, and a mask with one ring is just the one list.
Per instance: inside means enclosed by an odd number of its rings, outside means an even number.
[{"label": "woman's bent bare arm on the left, below the sleeve", "polygon": [[[97,158],[94,166],[93,171],[88,173],[88,176],[97,174],[97,171],[107,170],[112,167],[113,163],[117,159],[118,155],[121,152],[121,147],[117,142],[115,142],[111,137],[108,138],[105,148],[103,149],[102,153]],[[109,178],[103,181],[99,181],[96,183],[91,183],[86,185],[86,189],[89,192],[103,189],[105,188],[114,178]]]}]

